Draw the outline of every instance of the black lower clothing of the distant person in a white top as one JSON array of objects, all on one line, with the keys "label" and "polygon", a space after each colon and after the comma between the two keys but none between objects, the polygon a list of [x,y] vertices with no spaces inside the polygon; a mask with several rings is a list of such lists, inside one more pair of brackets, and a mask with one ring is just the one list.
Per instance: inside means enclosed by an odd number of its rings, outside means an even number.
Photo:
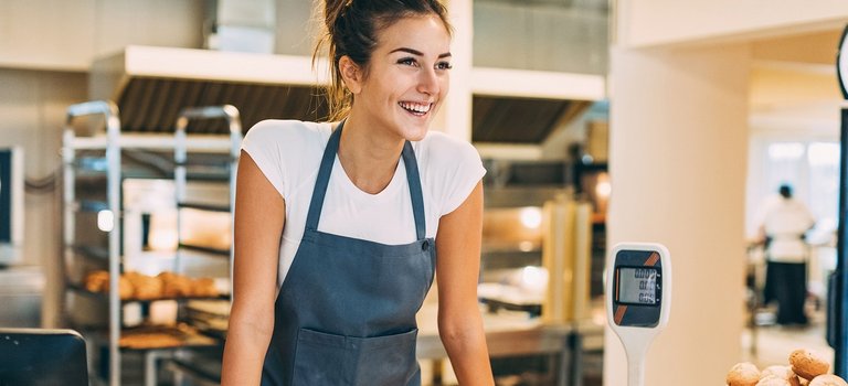
[{"label": "black lower clothing of the distant person in a white top", "polygon": [[807,324],[807,264],[768,261],[765,271],[765,303],[777,301],[777,324]]}]

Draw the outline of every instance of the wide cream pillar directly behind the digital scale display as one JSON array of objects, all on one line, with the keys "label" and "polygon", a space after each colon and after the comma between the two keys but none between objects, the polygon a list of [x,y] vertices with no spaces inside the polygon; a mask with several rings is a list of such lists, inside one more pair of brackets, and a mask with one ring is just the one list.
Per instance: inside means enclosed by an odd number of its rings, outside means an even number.
[{"label": "wide cream pillar directly behind the digital scale display", "polygon": [[[745,45],[613,51],[607,243],[662,243],[674,265],[646,385],[722,384],[741,353],[749,62]],[[625,385],[612,330],[604,347],[604,384]]]}]

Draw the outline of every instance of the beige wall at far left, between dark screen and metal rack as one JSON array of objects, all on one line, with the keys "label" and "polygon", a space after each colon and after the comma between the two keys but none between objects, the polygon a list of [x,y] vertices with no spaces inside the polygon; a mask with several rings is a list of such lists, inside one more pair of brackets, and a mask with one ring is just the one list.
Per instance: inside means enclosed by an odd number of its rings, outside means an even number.
[{"label": "beige wall at far left, between dark screen and metal rack", "polygon": [[[87,76],[78,73],[0,68],[0,146],[24,149],[24,175],[30,181],[57,178],[61,132],[68,105],[85,100]],[[24,199],[21,265],[42,266],[46,288],[42,324],[57,326],[61,300],[61,192],[29,191]]]}]

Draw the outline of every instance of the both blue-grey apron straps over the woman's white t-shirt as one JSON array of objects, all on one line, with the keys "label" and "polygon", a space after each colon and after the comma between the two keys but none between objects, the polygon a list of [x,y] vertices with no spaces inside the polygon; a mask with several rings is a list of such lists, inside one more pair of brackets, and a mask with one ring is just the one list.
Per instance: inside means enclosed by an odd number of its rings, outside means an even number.
[{"label": "both blue-grey apron straps over the woman's white t-shirt", "polygon": [[[318,222],[321,218],[321,208],[324,207],[324,197],[327,195],[327,185],[330,182],[330,172],[336,161],[336,153],[339,151],[339,141],[341,140],[341,129],[344,121],[339,122],[339,127],[332,131],[327,147],[324,149],[321,165],[318,169],[318,176],[312,189],[312,199],[309,202],[309,212],[306,215],[306,229],[318,230]],[[418,175],[418,162],[415,159],[415,151],[410,141],[403,144],[401,152],[403,164],[406,168],[406,183],[410,186],[410,196],[412,199],[412,213],[415,216],[415,237],[418,240],[425,238],[426,221],[424,218],[424,199],[421,193],[421,178]]]}]

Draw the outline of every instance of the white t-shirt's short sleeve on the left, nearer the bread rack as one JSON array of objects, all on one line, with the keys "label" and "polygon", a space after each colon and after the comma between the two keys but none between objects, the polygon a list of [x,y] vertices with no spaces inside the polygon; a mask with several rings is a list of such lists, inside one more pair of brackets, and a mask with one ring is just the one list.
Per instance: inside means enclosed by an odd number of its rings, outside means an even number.
[{"label": "white t-shirt's short sleeve on the left, nearer the bread rack", "polygon": [[244,150],[259,168],[265,178],[285,199],[285,187],[288,175],[283,168],[282,149],[279,148],[280,129],[273,121],[264,120],[254,125],[242,140]]}]

